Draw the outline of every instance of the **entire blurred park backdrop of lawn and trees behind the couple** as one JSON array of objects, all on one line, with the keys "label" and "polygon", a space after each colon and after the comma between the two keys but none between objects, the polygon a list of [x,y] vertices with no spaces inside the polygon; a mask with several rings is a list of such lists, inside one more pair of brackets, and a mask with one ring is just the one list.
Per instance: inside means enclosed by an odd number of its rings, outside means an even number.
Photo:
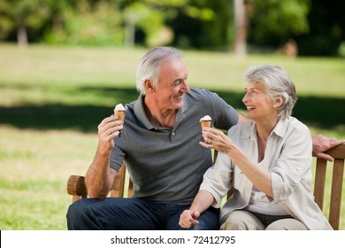
[{"label": "entire blurred park backdrop of lawn and trees behind the couple", "polygon": [[0,0],[0,229],[66,229],[68,176],[86,173],[98,123],[138,97],[136,66],[154,46],[182,50],[190,86],[239,112],[248,67],[282,66],[299,97],[293,115],[344,139],[344,10],[336,0]]}]

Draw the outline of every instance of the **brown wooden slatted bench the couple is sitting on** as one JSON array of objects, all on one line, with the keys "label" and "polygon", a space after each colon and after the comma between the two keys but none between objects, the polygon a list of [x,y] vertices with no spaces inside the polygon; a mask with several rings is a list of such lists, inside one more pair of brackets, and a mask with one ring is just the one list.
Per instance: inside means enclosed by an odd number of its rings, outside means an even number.
[{"label": "brown wooden slatted bench the couple is sitting on", "polygon": [[[344,159],[345,159],[345,143],[342,143],[334,148],[326,151],[327,154],[334,158],[333,176],[331,185],[330,209],[328,221],[331,226],[338,230],[341,217],[341,190],[344,176]],[[215,157],[217,154],[215,153]],[[328,162],[329,163],[329,162]],[[314,196],[315,202],[324,209],[325,200],[325,186],[326,186],[326,170],[327,161],[324,159],[317,159],[314,180]],[[116,198],[130,198],[133,194],[133,182],[126,176],[126,166],[123,165],[115,177],[111,188],[111,197]],[[84,176],[71,175],[67,182],[67,192],[73,196],[73,202],[80,198],[87,198],[88,192],[85,187]],[[231,190],[228,197],[232,194]]]}]

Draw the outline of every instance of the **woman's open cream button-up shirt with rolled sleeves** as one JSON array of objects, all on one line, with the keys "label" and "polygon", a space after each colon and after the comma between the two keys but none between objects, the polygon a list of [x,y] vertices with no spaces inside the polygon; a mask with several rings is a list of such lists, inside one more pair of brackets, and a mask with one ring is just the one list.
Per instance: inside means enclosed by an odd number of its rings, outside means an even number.
[{"label": "woman's open cream button-up shirt with rolled sleeves", "polygon": [[[257,129],[253,120],[230,128],[228,136],[249,158],[257,161]],[[301,121],[294,117],[278,121],[268,137],[262,160],[262,166],[272,177],[274,198],[267,199],[271,204],[281,205],[308,229],[332,229],[311,192],[311,148],[311,133]],[[234,195],[222,207],[220,218],[249,205],[253,183],[226,154],[219,152],[214,166],[204,174],[200,190],[209,191],[215,198],[212,205],[219,207],[232,187]]]}]

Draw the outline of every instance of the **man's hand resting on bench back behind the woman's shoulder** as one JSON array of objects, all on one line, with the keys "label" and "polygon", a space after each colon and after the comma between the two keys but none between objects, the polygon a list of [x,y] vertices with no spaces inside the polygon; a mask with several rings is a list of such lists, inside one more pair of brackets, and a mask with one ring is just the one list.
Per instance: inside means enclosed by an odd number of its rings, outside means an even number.
[{"label": "man's hand resting on bench back behind the woman's shoulder", "polygon": [[332,147],[345,143],[345,140],[336,139],[333,137],[326,137],[321,135],[313,135],[312,138],[312,156],[317,157],[318,159],[326,159],[327,161],[333,161],[333,158],[324,153]]}]

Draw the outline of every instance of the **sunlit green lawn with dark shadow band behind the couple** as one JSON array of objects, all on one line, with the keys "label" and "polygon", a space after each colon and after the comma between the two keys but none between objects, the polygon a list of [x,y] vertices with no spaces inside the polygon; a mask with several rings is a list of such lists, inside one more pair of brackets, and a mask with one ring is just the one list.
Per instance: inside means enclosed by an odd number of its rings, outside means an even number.
[{"label": "sunlit green lawn with dark shadow band behind the couple", "polygon": [[[137,98],[144,52],[0,44],[0,229],[66,229],[66,180],[88,169],[99,121]],[[294,115],[312,133],[345,138],[343,59],[184,54],[189,84],[216,91],[239,111],[248,66],[283,66],[299,96]]]}]

